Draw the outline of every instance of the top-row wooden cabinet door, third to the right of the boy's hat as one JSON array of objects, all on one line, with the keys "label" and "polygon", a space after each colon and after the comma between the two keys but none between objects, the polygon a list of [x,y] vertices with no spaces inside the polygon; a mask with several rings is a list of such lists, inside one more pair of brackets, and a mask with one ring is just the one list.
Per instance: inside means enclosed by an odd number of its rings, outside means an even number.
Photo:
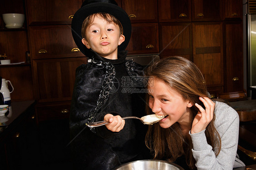
[{"label": "top-row wooden cabinet door, third to the right of the boy's hat", "polygon": [[191,0],[193,21],[221,20],[220,0]]}]

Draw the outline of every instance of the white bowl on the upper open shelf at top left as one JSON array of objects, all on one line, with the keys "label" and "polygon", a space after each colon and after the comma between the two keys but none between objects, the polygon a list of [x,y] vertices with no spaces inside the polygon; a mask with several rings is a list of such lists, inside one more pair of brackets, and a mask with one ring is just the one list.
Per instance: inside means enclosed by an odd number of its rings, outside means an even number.
[{"label": "white bowl on the upper open shelf at top left", "polygon": [[6,28],[21,28],[25,21],[24,14],[3,14]]}]

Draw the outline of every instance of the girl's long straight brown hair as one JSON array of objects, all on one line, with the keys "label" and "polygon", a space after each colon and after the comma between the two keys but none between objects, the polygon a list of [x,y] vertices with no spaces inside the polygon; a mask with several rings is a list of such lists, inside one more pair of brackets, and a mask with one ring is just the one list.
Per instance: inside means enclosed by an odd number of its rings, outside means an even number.
[{"label": "girl's long straight brown hair", "polygon": [[[195,115],[199,111],[195,107],[195,103],[204,107],[203,103],[199,100],[199,96],[208,96],[204,77],[197,66],[183,57],[169,57],[149,66],[145,75],[164,80],[167,85],[179,92],[184,100],[189,100],[194,104],[191,107],[193,114],[190,116],[192,126]],[[153,114],[148,106],[146,111],[147,114]],[[208,144],[215,148],[215,155],[218,155],[220,153],[221,140],[214,122],[215,114],[213,120],[206,127],[205,135]],[[189,130],[191,130],[191,126]],[[184,155],[189,168],[195,169],[191,138],[190,136],[183,135],[178,122],[167,129],[161,128],[158,123],[149,126],[145,141],[148,148],[153,152],[154,159],[175,161],[178,157]]]}]

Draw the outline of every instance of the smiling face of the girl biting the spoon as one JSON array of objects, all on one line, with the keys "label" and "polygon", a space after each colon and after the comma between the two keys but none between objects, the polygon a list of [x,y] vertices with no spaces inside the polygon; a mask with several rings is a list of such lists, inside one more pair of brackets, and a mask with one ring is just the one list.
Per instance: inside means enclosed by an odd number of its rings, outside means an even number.
[{"label": "smiling face of the girl biting the spoon", "polygon": [[[169,128],[174,123],[186,125],[189,122],[190,107],[189,100],[184,100],[182,96],[163,80],[156,77],[149,78],[148,105],[157,115],[168,115],[159,121],[162,128]],[[153,83],[152,83],[153,82]]]}]

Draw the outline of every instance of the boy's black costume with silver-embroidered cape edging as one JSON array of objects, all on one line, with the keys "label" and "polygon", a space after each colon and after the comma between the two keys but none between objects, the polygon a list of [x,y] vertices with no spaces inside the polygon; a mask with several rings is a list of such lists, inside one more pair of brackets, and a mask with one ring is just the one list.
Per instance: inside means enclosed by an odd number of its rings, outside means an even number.
[{"label": "boy's black costume with silver-embroidered cape edging", "polygon": [[121,51],[117,60],[108,60],[94,53],[91,63],[76,70],[70,114],[71,139],[75,138],[71,143],[75,169],[111,170],[139,154],[145,155],[142,156],[145,159],[149,156],[144,144],[147,126],[139,120],[127,120],[119,133],[105,126],[90,129],[85,125],[103,120],[107,112],[138,117],[145,114],[145,93],[123,91],[126,88],[122,84],[123,76],[143,81],[143,67],[125,60],[126,55],[126,51]]}]

